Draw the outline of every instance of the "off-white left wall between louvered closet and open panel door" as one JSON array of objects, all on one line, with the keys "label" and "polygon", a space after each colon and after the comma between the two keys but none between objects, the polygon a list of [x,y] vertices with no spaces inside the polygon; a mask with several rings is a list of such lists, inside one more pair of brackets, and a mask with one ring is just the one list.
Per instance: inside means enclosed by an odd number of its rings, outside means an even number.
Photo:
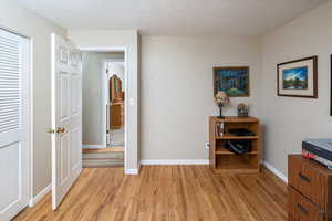
[{"label": "off-white left wall between louvered closet and open panel door", "polygon": [[51,33],[66,30],[28,11],[13,0],[0,1],[0,27],[33,41],[33,196],[51,183]]}]

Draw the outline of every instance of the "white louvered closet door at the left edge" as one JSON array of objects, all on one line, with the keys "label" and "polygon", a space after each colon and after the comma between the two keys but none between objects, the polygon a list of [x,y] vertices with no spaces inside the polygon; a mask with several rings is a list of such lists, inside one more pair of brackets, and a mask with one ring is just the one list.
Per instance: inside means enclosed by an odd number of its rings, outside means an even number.
[{"label": "white louvered closet door at the left edge", "polygon": [[28,40],[0,29],[0,220],[28,204]]}]

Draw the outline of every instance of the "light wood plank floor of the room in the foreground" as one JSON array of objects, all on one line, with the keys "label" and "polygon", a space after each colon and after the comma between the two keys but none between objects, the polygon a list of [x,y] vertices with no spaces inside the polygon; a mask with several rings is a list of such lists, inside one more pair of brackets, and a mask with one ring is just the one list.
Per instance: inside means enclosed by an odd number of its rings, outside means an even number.
[{"label": "light wood plank floor of the room in the foreground", "polygon": [[58,211],[48,194],[14,220],[283,221],[287,188],[266,169],[216,176],[208,166],[144,166],[124,176],[123,168],[89,168]]}]

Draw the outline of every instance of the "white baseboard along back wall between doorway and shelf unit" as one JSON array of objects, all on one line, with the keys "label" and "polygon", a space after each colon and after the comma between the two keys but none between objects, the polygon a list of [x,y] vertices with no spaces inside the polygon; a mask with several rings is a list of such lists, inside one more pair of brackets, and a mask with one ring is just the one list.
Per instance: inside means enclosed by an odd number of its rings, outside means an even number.
[{"label": "white baseboard along back wall between doorway and shelf unit", "polygon": [[208,165],[208,159],[143,159],[141,165]]}]

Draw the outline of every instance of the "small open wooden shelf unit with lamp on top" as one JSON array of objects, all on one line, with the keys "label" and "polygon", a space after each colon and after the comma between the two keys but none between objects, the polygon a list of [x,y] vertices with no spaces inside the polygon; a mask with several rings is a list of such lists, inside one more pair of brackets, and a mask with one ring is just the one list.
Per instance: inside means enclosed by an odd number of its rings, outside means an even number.
[{"label": "small open wooden shelf unit with lamp on top", "polygon": [[[217,125],[224,125],[222,136],[218,135]],[[232,136],[229,129],[247,128],[255,136]],[[256,173],[260,171],[260,123],[253,117],[209,117],[210,168],[219,172]],[[227,140],[247,139],[251,141],[251,151],[236,155],[225,148]]]}]

